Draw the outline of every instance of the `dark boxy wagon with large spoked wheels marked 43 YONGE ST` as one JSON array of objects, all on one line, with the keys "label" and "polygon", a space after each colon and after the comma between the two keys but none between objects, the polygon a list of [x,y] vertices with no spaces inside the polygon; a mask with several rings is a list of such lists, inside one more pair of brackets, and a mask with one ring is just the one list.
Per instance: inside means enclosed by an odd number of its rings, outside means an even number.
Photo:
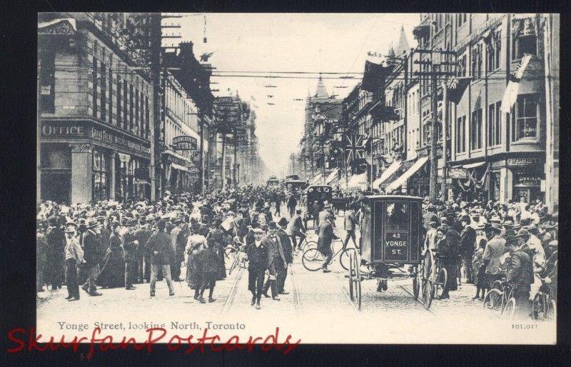
[{"label": "dark boxy wagon with large spoked wheels marked 43 YONGE ST", "polygon": [[[435,290],[443,291],[445,280],[438,283],[438,261],[424,243],[423,198],[417,196],[364,196],[361,203],[359,251],[350,253],[349,296],[361,307],[361,281],[376,279],[377,291],[385,291],[388,280],[413,279],[413,297],[430,308]],[[367,268],[366,276],[361,268]],[[408,268],[408,269],[407,269]]]}]

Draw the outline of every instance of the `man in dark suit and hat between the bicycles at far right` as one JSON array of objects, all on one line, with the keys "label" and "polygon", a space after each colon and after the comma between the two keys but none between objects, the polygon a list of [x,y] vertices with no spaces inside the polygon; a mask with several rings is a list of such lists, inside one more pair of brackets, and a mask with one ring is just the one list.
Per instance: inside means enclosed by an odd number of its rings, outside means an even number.
[{"label": "man in dark suit and hat between the bicycles at far right", "polygon": [[[522,231],[520,229],[520,231]],[[530,291],[533,283],[532,258],[525,251],[525,238],[517,233],[517,238],[507,236],[506,246],[510,251],[510,261],[507,263],[506,283],[515,283],[513,296],[517,306],[517,316],[526,316],[530,309]]]}]

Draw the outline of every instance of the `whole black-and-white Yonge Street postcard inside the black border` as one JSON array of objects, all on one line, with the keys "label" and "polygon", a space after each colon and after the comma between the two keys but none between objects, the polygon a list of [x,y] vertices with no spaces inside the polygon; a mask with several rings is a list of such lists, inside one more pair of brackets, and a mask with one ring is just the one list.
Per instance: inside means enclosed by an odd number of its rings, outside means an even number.
[{"label": "whole black-and-white Yonge Street postcard inside the black border", "polygon": [[557,343],[559,14],[54,11],[37,35],[42,340]]}]

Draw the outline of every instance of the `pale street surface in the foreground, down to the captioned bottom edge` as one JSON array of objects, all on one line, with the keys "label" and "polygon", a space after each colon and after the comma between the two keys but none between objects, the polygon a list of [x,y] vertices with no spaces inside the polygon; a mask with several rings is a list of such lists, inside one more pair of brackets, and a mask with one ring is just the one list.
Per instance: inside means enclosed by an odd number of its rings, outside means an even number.
[{"label": "pale street surface in the foreground, down to the captioned bottom edge", "polygon": [[[336,226],[336,232],[343,235],[343,217],[337,218]],[[335,243],[335,250],[340,246],[340,242]],[[144,338],[144,330],[129,328],[128,323],[165,323],[168,331],[186,334],[216,329],[213,325],[223,323],[218,328],[227,330],[216,332],[243,336],[267,335],[279,326],[281,333],[290,333],[305,343],[530,343],[555,335],[550,323],[522,324],[531,330],[515,329],[512,323],[490,323],[482,313],[482,303],[472,300],[475,288],[468,284],[451,292],[448,300],[433,301],[426,311],[411,295],[411,278],[389,281],[388,290],[383,292],[376,291],[375,279],[365,280],[362,308],[357,311],[348,296],[347,272],[338,260],[330,267],[331,273],[310,272],[303,268],[300,257],[295,256],[288,269],[285,291],[289,294],[282,295],[281,301],[262,298],[261,310],[250,306],[248,272],[238,269],[217,282],[216,302],[206,304],[195,301],[184,282],[174,284],[176,295],[172,297],[164,282],[157,283],[154,298],[149,296],[148,284],[138,284],[134,291],[103,289],[99,297],[90,297],[80,289],[81,300],[75,302],[64,299],[65,288],[46,291],[40,293],[38,301],[38,328],[46,335],[65,332],[91,336],[96,321],[122,323],[118,330],[104,332]],[[88,323],[90,330],[66,331],[81,323]],[[188,324],[188,328],[181,329],[176,323]],[[231,326],[236,323],[243,324],[243,330],[233,330]],[[490,328],[498,332],[490,333]]]}]

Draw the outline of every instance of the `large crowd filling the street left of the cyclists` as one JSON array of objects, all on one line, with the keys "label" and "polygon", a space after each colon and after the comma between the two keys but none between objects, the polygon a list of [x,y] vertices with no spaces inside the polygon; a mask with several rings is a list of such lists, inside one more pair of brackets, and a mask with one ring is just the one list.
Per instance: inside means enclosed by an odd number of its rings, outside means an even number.
[{"label": "large crowd filling the street left of the cyclists", "polygon": [[[67,299],[77,301],[80,286],[101,296],[101,289],[130,291],[149,283],[153,297],[156,281],[164,279],[170,296],[174,281],[186,281],[196,301],[212,303],[216,282],[226,278],[226,248],[246,246],[252,306],[261,308],[261,296],[280,301],[288,294],[285,277],[295,246],[290,233],[304,230],[298,200],[245,186],[204,196],[167,193],[156,203],[46,201],[37,216],[37,290],[65,283]],[[282,205],[293,205],[293,216],[276,223]]]}]

